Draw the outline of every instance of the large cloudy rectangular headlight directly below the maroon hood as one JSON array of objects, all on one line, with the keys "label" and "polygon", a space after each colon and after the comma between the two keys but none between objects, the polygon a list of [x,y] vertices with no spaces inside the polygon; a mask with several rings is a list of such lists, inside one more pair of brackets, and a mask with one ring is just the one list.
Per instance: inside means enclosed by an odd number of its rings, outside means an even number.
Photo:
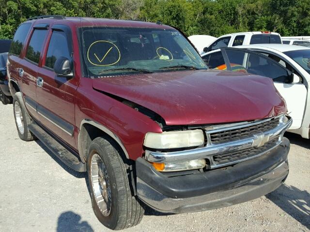
[{"label": "large cloudy rectangular headlight directly below the maroon hood", "polygon": [[203,143],[202,130],[148,132],[144,139],[144,146],[155,149],[200,146]]}]

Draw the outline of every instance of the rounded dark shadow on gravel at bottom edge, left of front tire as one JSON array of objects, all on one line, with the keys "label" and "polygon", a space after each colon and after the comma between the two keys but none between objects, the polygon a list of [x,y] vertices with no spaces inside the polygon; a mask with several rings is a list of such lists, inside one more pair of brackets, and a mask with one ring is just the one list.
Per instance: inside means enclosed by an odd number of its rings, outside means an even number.
[{"label": "rounded dark shadow on gravel at bottom edge, left of front tire", "polygon": [[81,216],[78,214],[67,211],[58,217],[57,232],[70,231],[70,232],[93,232],[93,228],[87,221],[81,221]]}]

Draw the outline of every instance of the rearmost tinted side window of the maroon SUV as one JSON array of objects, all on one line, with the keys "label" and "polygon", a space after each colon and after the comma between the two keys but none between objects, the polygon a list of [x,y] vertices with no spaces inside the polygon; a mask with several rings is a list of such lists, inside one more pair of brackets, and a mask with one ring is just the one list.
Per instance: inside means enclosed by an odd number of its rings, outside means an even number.
[{"label": "rearmost tinted side window of the maroon SUV", "polygon": [[25,23],[25,24],[20,25],[17,28],[15,35],[14,35],[14,38],[13,38],[13,41],[11,43],[11,47],[10,47],[10,51],[9,51],[10,54],[16,55],[16,56],[20,55],[30,27],[31,27],[30,23]]}]

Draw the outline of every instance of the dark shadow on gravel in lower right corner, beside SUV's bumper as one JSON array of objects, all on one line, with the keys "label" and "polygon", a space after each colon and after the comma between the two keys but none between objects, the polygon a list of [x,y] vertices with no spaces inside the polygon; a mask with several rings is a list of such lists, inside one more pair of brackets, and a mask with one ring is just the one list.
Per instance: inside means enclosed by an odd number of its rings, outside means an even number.
[{"label": "dark shadow on gravel in lower right corner, beside SUV's bumper", "polygon": [[310,194],[294,186],[282,185],[266,195],[270,201],[310,229]]}]

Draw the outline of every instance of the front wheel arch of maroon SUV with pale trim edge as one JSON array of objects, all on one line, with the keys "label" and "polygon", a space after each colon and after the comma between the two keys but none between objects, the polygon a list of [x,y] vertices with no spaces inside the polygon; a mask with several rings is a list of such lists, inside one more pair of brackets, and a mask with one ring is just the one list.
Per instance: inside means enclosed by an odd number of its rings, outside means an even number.
[{"label": "front wheel arch of maroon SUV with pale trim edge", "polygon": [[83,119],[80,124],[80,131],[78,133],[78,153],[80,159],[85,162],[87,160],[88,149],[92,141],[95,138],[104,135],[109,136],[113,141],[115,141],[123,150],[126,158],[129,160],[128,152],[119,137],[107,127],[90,119]]}]

